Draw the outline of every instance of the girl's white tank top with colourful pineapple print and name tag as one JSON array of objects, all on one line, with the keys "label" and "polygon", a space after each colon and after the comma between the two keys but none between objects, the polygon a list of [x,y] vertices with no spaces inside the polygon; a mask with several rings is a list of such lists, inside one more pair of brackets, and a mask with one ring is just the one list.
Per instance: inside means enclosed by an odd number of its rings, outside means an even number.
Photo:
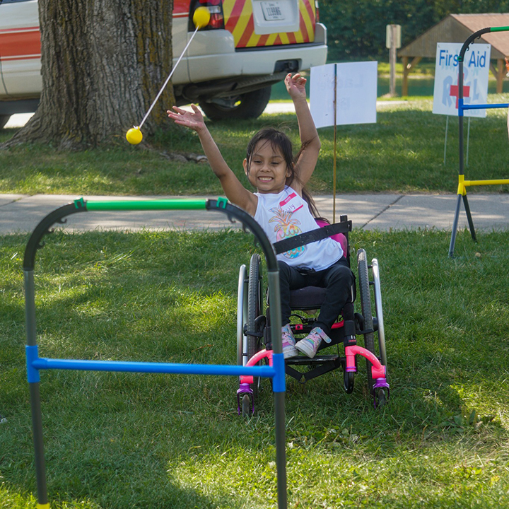
[{"label": "girl's white tank top with colourful pineapple print and name tag", "polygon": [[[254,194],[258,197],[254,219],[262,226],[271,243],[318,228],[308,203],[291,187],[285,186],[279,194]],[[278,254],[277,259],[292,267],[320,271],[330,267],[342,256],[339,242],[325,238]]]}]

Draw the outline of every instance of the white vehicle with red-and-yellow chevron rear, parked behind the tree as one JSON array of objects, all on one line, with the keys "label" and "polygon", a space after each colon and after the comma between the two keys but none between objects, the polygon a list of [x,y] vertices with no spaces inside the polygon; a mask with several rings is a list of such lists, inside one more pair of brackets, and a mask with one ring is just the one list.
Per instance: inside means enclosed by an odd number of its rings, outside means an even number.
[{"label": "white vehicle with red-and-yellow chevron rear, parked behind the tree", "polygon": [[[174,64],[199,6],[211,21],[172,77],[177,105],[199,103],[211,119],[258,117],[272,84],[327,59],[315,0],[174,0]],[[35,111],[41,88],[37,0],[0,0],[0,128],[14,113]]]}]

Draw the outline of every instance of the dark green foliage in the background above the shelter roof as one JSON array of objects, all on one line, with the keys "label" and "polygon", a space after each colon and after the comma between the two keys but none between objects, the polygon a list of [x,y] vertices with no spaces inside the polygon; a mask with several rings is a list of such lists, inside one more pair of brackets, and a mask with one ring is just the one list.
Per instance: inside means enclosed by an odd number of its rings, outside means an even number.
[{"label": "dark green foliage in the background above the shelter roof", "polygon": [[402,46],[448,14],[503,13],[509,1],[496,0],[320,0],[320,21],[327,26],[329,60],[388,58],[385,27],[402,25]]}]

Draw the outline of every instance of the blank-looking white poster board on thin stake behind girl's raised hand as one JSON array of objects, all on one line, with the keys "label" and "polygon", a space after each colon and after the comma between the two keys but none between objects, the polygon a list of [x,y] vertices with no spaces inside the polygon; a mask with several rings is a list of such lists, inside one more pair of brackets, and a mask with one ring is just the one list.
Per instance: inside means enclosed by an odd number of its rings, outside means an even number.
[{"label": "blank-looking white poster board on thin stake behind girl's raised hand", "polygon": [[[378,62],[326,64],[311,68],[310,110],[316,127],[376,122]],[[335,83],[335,87],[334,87]]]}]

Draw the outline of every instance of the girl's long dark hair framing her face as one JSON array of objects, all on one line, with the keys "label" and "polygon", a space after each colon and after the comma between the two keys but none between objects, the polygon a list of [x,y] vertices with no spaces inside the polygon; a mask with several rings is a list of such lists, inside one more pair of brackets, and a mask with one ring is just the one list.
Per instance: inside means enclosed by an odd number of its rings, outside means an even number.
[{"label": "girl's long dark hair framing her face", "polygon": [[[250,139],[250,142],[247,144],[246,160],[248,174],[251,168],[251,159],[253,151],[254,148],[256,148],[259,141],[265,141],[266,143],[271,144],[273,148],[276,148],[281,152],[281,155],[283,156],[283,159],[286,162],[286,168],[290,172],[290,176],[286,179],[286,185],[291,185],[293,180],[299,180],[299,177],[296,174],[295,170],[295,163],[297,162],[300,154],[303,152],[306,146],[308,146],[308,143],[302,144],[300,146],[300,151],[298,151],[298,154],[294,157],[291,139],[289,139],[288,136],[286,136],[286,134],[284,134],[281,131],[278,131],[277,129],[274,129],[274,127],[266,127],[265,129],[261,129],[260,131],[257,132],[257,134],[255,134],[252,137],[252,139]],[[308,189],[303,187],[302,193],[303,199],[305,199],[305,201],[307,201],[308,203],[312,216],[315,218],[320,217],[320,214],[318,213],[317,210],[317,206],[315,204],[315,200],[312,199],[312,196]]]}]

